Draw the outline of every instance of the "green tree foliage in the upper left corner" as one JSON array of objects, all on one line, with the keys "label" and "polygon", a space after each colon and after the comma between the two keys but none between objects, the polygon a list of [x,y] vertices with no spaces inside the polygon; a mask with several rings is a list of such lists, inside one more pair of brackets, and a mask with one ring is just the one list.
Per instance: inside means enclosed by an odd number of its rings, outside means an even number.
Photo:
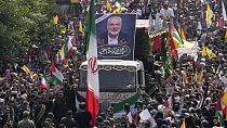
[{"label": "green tree foliage in the upper left corner", "polygon": [[56,34],[54,9],[54,0],[1,0],[0,57],[6,61],[32,44],[51,43]]}]

